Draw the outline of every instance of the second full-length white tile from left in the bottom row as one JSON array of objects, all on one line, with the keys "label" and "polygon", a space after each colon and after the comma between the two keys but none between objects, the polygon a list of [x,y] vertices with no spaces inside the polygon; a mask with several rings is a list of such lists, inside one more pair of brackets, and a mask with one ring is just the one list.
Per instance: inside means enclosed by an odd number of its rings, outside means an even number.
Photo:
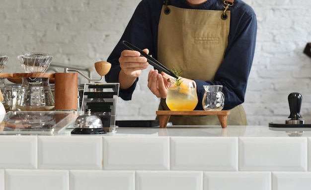
[{"label": "second full-length white tile from left in the bottom row", "polygon": [[135,172],[71,170],[70,190],[135,190]]}]

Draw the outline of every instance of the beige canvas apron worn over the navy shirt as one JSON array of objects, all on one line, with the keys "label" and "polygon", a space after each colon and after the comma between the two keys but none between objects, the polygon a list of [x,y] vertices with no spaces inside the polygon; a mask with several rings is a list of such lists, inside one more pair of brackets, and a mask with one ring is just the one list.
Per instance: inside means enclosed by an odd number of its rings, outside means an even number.
[{"label": "beige canvas apron worn over the navy shirt", "polygon": [[[214,80],[224,59],[230,30],[228,19],[221,19],[224,11],[162,7],[158,26],[157,59],[168,69],[182,69],[182,77]],[[200,103],[200,102],[199,102]],[[226,104],[226,97],[225,97]],[[169,110],[161,99],[159,110]],[[170,116],[173,125],[220,125],[217,116]],[[231,110],[228,125],[247,125],[242,105]]]}]

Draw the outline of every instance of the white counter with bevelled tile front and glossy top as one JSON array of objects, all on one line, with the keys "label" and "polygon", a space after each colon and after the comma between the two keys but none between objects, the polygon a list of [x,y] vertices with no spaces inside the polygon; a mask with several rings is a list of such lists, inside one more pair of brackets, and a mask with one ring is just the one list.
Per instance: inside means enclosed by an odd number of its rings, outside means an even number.
[{"label": "white counter with bevelled tile front and glossy top", "polygon": [[310,190],[311,129],[0,135],[0,190]]}]

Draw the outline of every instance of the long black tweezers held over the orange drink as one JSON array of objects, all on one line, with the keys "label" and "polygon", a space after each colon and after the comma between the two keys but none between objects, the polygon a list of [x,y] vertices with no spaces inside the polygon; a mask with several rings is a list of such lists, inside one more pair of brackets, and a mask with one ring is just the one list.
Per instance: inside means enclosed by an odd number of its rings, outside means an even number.
[{"label": "long black tweezers held over the orange drink", "polygon": [[143,52],[141,49],[137,48],[133,44],[130,44],[127,41],[122,41],[122,44],[131,50],[138,51],[139,53],[141,53],[142,56],[147,58],[148,63],[153,65],[159,71],[159,73],[163,71],[166,74],[168,74],[174,78],[177,78],[177,76],[172,71],[168,70],[163,64],[159,63],[155,58],[149,56],[148,54],[146,54],[145,52]]}]

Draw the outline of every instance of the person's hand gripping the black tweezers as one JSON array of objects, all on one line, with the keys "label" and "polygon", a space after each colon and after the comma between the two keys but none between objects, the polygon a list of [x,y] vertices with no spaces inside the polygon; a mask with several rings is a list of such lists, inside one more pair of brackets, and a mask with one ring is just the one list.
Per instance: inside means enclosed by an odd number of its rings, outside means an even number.
[{"label": "person's hand gripping the black tweezers", "polygon": [[[146,54],[148,49],[143,50]],[[121,70],[125,75],[132,78],[137,78],[142,73],[142,69],[146,69],[149,65],[147,58],[141,57],[137,51],[124,50],[119,58]]]}]

